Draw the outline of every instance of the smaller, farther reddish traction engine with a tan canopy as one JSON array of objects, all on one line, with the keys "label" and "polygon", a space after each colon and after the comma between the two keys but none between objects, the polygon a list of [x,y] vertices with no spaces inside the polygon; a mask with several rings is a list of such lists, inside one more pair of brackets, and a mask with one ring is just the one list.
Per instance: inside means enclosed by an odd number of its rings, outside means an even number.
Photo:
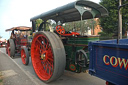
[{"label": "smaller, farther reddish traction engine with a tan canopy", "polygon": [[11,31],[10,39],[7,41],[6,53],[14,58],[16,53],[21,53],[21,59],[24,65],[29,63],[30,43],[28,42],[27,32],[31,27],[19,26],[7,29]]}]

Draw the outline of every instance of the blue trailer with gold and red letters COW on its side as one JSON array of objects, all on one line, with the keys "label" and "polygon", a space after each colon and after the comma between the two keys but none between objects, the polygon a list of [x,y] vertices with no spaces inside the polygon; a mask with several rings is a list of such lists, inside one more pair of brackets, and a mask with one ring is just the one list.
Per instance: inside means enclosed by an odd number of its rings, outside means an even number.
[{"label": "blue trailer with gold and red letters COW on its side", "polygon": [[128,39],[89,43],[89,74],[107,81],[107,85],[128,85]]}]

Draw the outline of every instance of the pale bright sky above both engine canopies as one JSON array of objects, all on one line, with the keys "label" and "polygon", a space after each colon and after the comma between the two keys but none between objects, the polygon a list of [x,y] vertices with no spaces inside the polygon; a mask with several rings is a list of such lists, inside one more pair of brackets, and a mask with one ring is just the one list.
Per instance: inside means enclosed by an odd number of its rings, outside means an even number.
[{"label": "pale bright sky above both engine canopies", "polygon": [[[6,29],[31,27],[30,18],[76,0],[0,0],[0,36],[9,39]],[[99,3],[100,0],[90,0]]]}]

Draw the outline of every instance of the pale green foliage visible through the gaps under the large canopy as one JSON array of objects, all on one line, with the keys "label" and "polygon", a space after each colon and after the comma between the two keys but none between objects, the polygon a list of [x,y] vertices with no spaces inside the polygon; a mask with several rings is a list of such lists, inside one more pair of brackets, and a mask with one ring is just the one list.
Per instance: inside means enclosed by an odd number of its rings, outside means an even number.
[{"label": "pale green foliage visible through the gaps under the large canopy", "polygon": [[[36,20],[36,30],[39,28],[40,24],[43,22],[42,19],[37,19]],[[87,32],[89,29],[94,29],[94,26],[96,26],[97,23],[94,19],[89,19],[89,20],[82,20],[82,21],[74,21],[74,22],[68,22],[64,23],[63,27],[65,28],[66,31],[79,31],[84,34],[84,32]],[[56,27],[56,23],[52,20],[48,20],[46,22],[46,27],[45,31],[49,31],[49,26],[52,28]],[[42,27],[44,29],[44,26]]]}]

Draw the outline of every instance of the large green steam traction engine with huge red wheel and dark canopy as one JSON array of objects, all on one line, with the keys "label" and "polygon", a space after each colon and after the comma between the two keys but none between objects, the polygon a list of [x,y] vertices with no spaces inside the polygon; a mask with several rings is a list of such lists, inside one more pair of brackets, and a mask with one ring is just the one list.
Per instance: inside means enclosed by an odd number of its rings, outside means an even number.
[{"label": "large green steam traction engine with huge red wheel and dark canopy", "polygon": [[[31,61],[37,76],[51,82],[59,78],[64,70],[83,72],[88,68],[88,42],[99,40],[97,36],[82,35],[81,32],[66,32],[63,23],[82,21],[108,15],[107,10],[94,2],[79,0],[30,19],[34,37],[31,44]],[[36,28],[36,20],[42,23]],[[54,20],[56,27],[46,31],[47,21]],[[61,24],[59,24],[61,23]]]}]

